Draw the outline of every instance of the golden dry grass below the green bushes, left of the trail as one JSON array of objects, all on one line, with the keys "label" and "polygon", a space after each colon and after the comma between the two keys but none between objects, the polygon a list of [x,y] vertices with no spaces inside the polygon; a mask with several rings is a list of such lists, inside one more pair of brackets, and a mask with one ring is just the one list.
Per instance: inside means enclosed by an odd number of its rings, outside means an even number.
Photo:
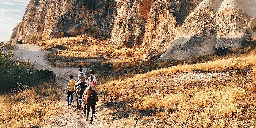
[{"label": "golden dry grass below the green bushes, left of the trail", "polygon": [[31,128],[53,122],[57,113],[60,92],[58,83],[43,82],[42,85],[24,91],[0,96],[0,127]]}]

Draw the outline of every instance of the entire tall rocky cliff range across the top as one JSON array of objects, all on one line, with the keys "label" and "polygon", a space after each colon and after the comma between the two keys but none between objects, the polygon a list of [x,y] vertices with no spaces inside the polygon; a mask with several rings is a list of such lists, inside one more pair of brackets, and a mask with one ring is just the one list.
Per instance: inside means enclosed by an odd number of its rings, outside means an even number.
[{"label": "entire tall rocky cliff range across the top", "polygon": [[9,43],[101,30],[111,44],[142,48],[143,58],[186,59],[238,48],[256,35],[256,0],[30,0]]}]

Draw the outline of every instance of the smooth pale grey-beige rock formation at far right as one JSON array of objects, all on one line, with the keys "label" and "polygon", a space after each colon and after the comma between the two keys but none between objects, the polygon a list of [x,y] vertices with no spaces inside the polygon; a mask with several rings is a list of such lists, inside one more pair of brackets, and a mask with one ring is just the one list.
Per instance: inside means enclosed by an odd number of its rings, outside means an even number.
[{"label": "smooth pale grey-beige rock formation at far right", "polygon": [[211,53],[217,46],[238,48],[250,38],[248,33],[254,34],[254,5],[254,0],[203,0],[159,60],[187,59]]}]

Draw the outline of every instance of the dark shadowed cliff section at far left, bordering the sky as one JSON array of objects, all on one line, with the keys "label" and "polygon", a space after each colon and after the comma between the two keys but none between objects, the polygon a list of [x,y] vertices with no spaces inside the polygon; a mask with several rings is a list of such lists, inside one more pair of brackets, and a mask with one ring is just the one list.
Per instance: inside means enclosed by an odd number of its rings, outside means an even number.
[{"label": "dark shadowed cliff section at far left, bordering the sky", "polygon": [[30,0],[8,43],[27,41],[31,34],[42,40],[74,36],[89,28],[110,36],[115,17],[115,0]]}]

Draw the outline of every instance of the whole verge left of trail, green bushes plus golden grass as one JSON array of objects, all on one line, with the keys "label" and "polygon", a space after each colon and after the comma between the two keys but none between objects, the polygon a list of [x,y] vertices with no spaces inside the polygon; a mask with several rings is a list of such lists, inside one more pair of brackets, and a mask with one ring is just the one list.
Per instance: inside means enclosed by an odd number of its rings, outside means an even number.
[{"label": "whole verge left of trail, green bushes plus golden grass", "polygon": [[12,50],[4,54],[0,48],[0,127],[42,127],[52,122],[60,96],[53,72],[11,58]]}]

